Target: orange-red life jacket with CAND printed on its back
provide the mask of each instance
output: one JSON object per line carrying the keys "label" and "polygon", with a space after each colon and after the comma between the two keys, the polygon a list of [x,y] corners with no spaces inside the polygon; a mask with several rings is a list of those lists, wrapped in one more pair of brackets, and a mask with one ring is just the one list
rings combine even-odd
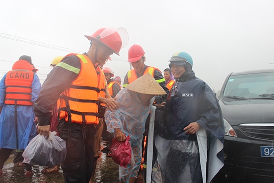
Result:
{"label": "orange-red life jacket with CAND printed on its back", "polygon": [[5,79],[5,104],[32,106],[32,81],[34,72],[32,65],[25,60],[18,60],[7,72]]}

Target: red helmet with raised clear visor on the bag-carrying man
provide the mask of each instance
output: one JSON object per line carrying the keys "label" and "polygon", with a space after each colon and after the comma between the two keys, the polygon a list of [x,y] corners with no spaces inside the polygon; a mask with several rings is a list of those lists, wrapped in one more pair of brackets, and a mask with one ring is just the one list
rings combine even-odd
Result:
{"label": "red helmet with raised clear visor on the bag-carrying man", "polygon": [[119,55],[119,51],[126,40],[128,40],[128,33],[124,28],[100,28],[91,36],[85,35],[89,40],[96,40],[110,48],[115,54]]}

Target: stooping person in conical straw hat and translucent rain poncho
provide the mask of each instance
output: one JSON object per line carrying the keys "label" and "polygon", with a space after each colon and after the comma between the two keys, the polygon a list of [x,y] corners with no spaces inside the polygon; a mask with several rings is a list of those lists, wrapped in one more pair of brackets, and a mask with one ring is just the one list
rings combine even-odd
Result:
{"label": "stooping person in conical straw hat and translucent rain poncho", "polygon": [[107,109],[105,112],[107,130],[114,133],[117,140],[125,141],[126,136],[130,136],[132,159],[126,167],[119,166],[120,183],[134,183],[138,176],[145,121],[154,96],[164,94],[166,92],[157,81],[150,74],[145,74],[117,94],[116,101],[120,105],[118,110]]}

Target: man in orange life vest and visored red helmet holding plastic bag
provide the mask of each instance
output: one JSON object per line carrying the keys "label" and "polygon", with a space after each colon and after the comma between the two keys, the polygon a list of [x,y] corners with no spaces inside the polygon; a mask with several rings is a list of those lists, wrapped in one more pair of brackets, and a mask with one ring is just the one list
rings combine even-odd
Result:
{"label": "man in orange life vest and visored red helmet holding plastic bag", "polygon": [[[65,183],[88,183],[91,178],[99,92],[105,87],[99,65],[113,53],[119,55],[128,41],[127,35],[124,28],[101,28],[85,36],[91,41],[88,52],[65,56],[48,74],[34,103],[37,131],[44,136],[49,135],[51,110],[56,101],[59,106],[57,129],[67,145],[62,162]],[[106,105],[110,110],[116,107],[115,103]]]}

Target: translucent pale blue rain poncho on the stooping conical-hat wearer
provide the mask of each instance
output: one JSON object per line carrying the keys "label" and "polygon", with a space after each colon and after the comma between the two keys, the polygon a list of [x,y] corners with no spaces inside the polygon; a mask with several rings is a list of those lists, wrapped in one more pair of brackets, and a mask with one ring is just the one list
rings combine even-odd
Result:
{"label": "translucent pale blue rain poncho on the stooping conical-hat wearer", "polygon": [[137,97],[137,93],[122,89],[116,95],[116,102],[120,107],[115,111],[108,108],[105,112],[107,131],[114,133],[119,128],[126,136],[130,136],[132,148],[131,163],[127,167],[119,166],[119,180],[128,183],[130,177],[137,178],[142,157],[142,139],[145,131],[145,121],[149,115],[154,97],[149,105],[144,105]]}

